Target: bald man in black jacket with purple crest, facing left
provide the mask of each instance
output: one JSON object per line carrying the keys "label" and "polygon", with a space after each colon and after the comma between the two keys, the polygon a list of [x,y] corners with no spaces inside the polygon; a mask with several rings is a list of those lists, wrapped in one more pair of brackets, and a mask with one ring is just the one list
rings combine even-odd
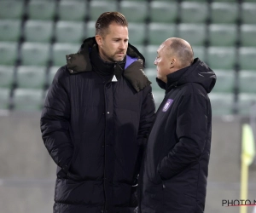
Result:
{"label": "bald man in black jacket with purple crest, facing left", "polygon": [[139,180],[140,213],[202,213],[211,147],[208,93],[214,72],[194,60],[190,44],[172,37],[154,60],[157,83],[166,96],[148,137]]}

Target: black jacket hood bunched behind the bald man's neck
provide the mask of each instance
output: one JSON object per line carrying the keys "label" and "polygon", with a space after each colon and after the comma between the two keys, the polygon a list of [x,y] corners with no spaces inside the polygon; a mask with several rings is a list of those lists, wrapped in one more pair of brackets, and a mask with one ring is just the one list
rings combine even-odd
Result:
{"label": "black jacket hood bunched behind the bald man's neck", "polygon": [[[177,78],[179,73],[180,77]],[[216,75],[205,62],[196,58],[191,66],[167,75],[167,83],[162,82],[160,79],[157,79],[157,83],[162,89],[166,89],[166,92],[185,83],[199,83],[206,89],[207,93],[210,93],[216,83]]]}

